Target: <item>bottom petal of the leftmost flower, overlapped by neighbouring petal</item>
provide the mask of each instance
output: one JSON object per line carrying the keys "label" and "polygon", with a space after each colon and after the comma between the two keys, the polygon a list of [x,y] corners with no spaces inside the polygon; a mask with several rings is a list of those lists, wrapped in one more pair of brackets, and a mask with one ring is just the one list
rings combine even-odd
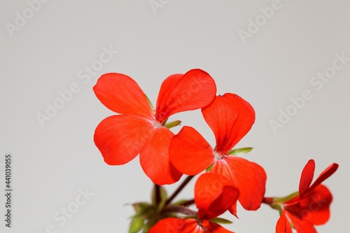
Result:
{"label": "bottom petal of the leftmost flower, overlapped by neighbouring petal", "polygon": [[173,136],[166,127],[155,128],[140,153],[142,169],[158,185],[175,183],[182,176],[169,160],[169,146]]}

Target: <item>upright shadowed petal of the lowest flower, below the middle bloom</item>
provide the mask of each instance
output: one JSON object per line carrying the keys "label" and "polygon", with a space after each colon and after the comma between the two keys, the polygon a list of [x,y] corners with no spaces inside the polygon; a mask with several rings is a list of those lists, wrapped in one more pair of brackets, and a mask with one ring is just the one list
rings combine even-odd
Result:
{"label": "upright shadowed petal of the lowest flower, below the middle bloom", "polygon": [[202,174],[195,184],[198,218],[210,220],[237,202],[239,192],[230,181],[216,174]]}

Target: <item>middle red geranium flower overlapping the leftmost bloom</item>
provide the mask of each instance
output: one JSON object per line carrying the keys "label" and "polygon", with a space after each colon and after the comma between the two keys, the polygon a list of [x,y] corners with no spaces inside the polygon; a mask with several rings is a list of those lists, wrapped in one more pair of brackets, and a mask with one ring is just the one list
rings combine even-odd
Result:
{"label": "middle red geranium flower overlapping the leftmost bloom", "polygon": [[[216,138],[215,149],[192,127],[183,127],[172,139],[169,154],[176,169],[184,174],[199,174],[212,165],[211,173],[219,174],[239,190],[239,202],[247,210],[260,207],[265,194],[266,174],[260,165],[236,155],[230,150],[246,135],[255,121],[248,102],[236,94],[218,96],[202,109]],[[235,214],[235,205],[230,212]]]}

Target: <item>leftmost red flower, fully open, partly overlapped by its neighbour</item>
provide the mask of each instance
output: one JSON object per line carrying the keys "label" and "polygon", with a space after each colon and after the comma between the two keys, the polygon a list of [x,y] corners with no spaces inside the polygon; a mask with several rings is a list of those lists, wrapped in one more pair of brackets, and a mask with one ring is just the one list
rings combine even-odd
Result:
{"label": "leftmost red flower, fully open, partly overlapped by its neighbour", "polygon": [[170,115],[195,110],[211,103],[216,85],[208,73],[193,69],[169,76],[160,87],[155,113],[144,92],[132,78],[106,73],[94,86],[97,98],[121,115],[102,120],[94,143],[110,165],[130,162],[140,154],[145,174],[158,185],[179,180],[181,173],[169,162],[169,143],[174,134],[165,127]]}

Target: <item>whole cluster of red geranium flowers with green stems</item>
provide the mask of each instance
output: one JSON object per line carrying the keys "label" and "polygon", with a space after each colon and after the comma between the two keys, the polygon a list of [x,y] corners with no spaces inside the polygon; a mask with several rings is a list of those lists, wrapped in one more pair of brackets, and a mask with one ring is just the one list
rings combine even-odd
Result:
{"label": "whole cluster of red geranium flowers with green stems", "polygon": [[[332,164],[314,176],[314,160],[302,171],[299,191],[287,197],[265,197],[265,170],[245,158],[252,148],[235,148],[255,121],[253,107],[233,93],[216,94],[216,83],[209,74],[192,69],[185,74],[166,78],[155,108],[132,78],[121,73],[106,73],[94,86],[97,98],[111,111],[94,132],[94,143],[104,161],[122,165],[139,155],[146,176],[153,181],[152,202],[134,203],[130,233],[225,233],[221,223],[225,211],[237,217],[237,203],[248,211],[261,204],[279,210],[276,233],[316,232],[330,216],[332,195],[321,183],[338,165]],[[178,134],[171,129],[180,120],[168,122],[170,116],[201,109],[204,120],[214,133],[216,145],[195,128],[184,126]],[[162,185],[188,177],[170,197]],[[194,198],[173,202],[176,195],[199,175]],[[196,206],[196,210],[190,206]]]}

